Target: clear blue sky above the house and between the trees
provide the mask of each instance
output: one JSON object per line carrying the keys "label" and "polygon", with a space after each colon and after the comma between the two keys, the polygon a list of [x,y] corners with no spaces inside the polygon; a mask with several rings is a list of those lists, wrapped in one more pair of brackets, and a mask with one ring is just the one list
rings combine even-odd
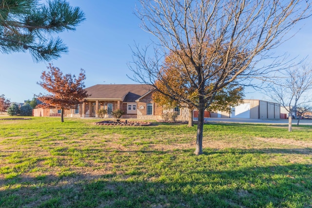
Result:
{"label": "clear blue sky above the house and between the trees", "polygon": [[[86,15],[76,31],[63,32],[58,36],[69,48],[57,60],[50,61],[64,73],[78,75],[86,71],[85,86],[96,84],[134,83],[126,75],[132,73],[127,62],[132,60],[130,46],[135,41],[147,45],[150,34],[139,28],[140,21],[133,14],[137,0],[69,0],[72,6],[79,6]],[[276,50],[277,54],[287,52],[291,57],[312,58],[312,27],[307,19],[298,27],[302,29],[294,38]],[[37,84],[48,62],[35,63],[29,53],[0,54],[0,95],[11,102],[32,99],[34,94],[44,93]],[[252,91],[247,91],[252,92]],[[267,99],[265,95],[247,93],[247,99]]]}

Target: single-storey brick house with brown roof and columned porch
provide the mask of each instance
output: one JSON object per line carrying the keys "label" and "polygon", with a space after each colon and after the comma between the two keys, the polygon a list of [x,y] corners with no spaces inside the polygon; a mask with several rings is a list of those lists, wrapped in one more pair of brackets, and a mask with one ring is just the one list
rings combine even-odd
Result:
{"label": "single-storey brick house with brown roof and columned porch", "polygon": [[[76,106],[75,109],[64,110],[66,117],[98,117],[98,110],[107,111],[105,118],[112,118],[113,111],[122,110],[121,118],[137,118],[145,120],[161,120],[166,111],[176,111],[177,120],[187,120],[187,109],[164,110],[152,99],[154,88],[144,84],[98,84],[85,89],[91,96]],[[58,109],[37,108],[34,116],[60,116]]]}

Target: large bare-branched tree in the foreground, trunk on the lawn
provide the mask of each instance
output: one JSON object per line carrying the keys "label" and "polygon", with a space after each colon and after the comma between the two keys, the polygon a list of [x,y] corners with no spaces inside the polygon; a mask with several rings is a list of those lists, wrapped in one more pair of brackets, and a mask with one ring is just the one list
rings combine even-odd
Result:
{"label": "large bare-branched tree in the foreground, trunk on the lawn", "polygon": [[156,40],[153,57],[148,47],[137,45],[133,50],[132,79],[165,93],[155,85],[162,77],[163,57],[173,53],[185,66],[191,63],[187,74],[197,91],[196,103],[174,92],[170,96],[198,110],[195,154],[202,153],[204,110],[216,93],[239,78],[268,73],[273,65],[256,69],[255,64],[270,57],[270,49],[280,45],[295,23],[311,16],[311,2],[306,0],[140,2],[137,17]]}

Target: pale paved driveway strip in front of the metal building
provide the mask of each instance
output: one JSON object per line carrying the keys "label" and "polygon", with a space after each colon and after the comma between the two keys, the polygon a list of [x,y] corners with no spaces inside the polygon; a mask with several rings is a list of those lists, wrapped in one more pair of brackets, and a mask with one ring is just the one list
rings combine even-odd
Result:
{"label": "pale paved driveway strip in front of the metal building", "polygon": [[[251,119],[251,118],[205,118],[206,121],[234,122],[234,123],[266,123],[266,124],[288,124],[288,119]],[[297,124],[297,119],[292,119],[292,124]],[[300,125],[312,125],[312,119],[301,119]]]}

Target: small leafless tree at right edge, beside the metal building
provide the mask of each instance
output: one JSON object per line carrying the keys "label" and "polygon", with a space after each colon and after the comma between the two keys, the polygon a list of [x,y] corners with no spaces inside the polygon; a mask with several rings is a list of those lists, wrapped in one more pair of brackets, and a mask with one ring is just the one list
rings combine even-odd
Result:
{"label": "small leafless tree at right edge, beside the metal building", "polygon": [[268,87],[268,95],[288,112],[288,131],[292,132],[292,114],[299,106],[312,101],[307,96],[312,89],[312,67],[303,63],[280,73],[281,75],[276,75],[276,79],[273,80],[273,85]]}

